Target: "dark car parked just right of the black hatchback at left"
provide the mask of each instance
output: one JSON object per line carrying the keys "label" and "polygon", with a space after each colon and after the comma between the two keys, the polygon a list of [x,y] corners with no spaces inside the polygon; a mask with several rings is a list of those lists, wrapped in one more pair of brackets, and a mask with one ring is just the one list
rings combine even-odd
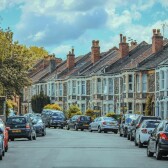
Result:
{"label": "dark car parked just right of the black hatchback at left", "polygon": [[41,118],[34,118],[32,124],[35,128],[36,135],[46,135],[46,127]]}

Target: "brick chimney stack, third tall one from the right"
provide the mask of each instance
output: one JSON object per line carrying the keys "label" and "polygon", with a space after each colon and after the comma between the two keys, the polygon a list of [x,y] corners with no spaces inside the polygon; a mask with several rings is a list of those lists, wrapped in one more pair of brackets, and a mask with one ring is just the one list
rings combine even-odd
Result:
{"label": "brick chimney stack, third tall one from the right", "polygon": [[92,53],[91,53],[91,61],[94,64],[95,62],[100,60],[100,46],[99,46],[99,40],[93,40],[92,41]]}

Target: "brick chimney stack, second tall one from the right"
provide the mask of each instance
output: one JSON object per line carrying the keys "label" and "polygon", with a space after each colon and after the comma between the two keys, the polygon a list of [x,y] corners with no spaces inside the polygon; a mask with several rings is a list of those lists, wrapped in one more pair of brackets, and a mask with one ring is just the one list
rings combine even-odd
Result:
{"label": "brick chimney stack, second tall one from the right", "polygon": [[127,41],[126,36],[122,36],[122,34],[120,34],[120,43],[119,43],[120,58],[123,58],[129,54],[129,45],[126,41]]}

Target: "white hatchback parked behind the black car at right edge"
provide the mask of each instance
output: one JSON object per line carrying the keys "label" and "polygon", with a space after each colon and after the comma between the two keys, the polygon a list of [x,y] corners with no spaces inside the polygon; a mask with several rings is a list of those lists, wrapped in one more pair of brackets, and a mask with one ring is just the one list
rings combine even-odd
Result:
{"label": "white hatchback parked behind the black car at right edge", "polygon": [[136,130],[135,145],[138,145],[139,148],[146,145],[152,131],[159,123],[160,120],[144,120],[141,126]]}

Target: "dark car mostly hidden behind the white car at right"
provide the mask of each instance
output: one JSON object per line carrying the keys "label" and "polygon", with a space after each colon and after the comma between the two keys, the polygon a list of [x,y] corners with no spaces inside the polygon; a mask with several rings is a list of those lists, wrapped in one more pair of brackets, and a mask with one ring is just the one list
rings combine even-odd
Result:
{"label": "dark car mostly hidden behind the white car at right", "polygon": [[138,145],[137,142],[136,142],[136,130],[140,127],[141,123],[144,120],[149,120],[149,119],[151,119],[151,120],[161,120],[160,117],[156,117],[156,116],[139,115],[138,118],[135,120],[135,122],[133,122],[132,129],[131,129],[131,132],[130,132],[130,138],[134,139],[135,145]]}

